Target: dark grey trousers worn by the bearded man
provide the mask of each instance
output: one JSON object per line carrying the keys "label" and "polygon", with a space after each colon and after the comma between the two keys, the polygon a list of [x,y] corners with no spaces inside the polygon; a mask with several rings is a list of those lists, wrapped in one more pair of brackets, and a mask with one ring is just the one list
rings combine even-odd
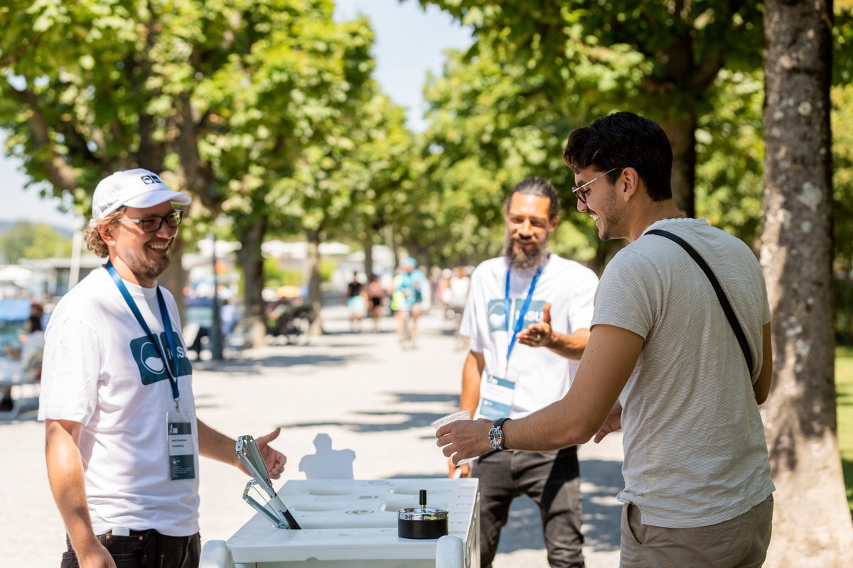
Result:
{"label": "dark grey trousers worn by the bearded man", "polygon": [[490,568],[509,507],[529,496],[542,517],[548,564],[583,568],[581,479],[577,446],[560,451],[495,451],[473,462],[480,481],[480,566]]}

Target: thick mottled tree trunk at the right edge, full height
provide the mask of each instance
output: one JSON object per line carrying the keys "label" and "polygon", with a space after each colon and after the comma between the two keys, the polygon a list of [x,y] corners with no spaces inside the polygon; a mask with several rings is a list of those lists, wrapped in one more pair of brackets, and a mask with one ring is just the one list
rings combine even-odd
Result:
{"label": "thick mottled tree trunk at the right edge, full height", "polygon": [[761,260],[775,353],[764,418],[777,490],[770,568],[853,565],[833,376],[832,18],[831,0],[764,4]]}

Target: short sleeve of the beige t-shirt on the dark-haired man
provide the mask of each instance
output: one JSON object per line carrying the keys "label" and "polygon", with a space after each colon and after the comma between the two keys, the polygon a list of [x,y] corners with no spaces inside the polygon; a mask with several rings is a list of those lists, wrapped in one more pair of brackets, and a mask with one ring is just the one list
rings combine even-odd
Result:
{"label": "short sleeve of the beige t-shirt on the dark-haired man", "polygon": [[601,275],[592,324],[621,327],[645,339],[660,313],[662,294],[661,278],[652,262],[622,250]]}

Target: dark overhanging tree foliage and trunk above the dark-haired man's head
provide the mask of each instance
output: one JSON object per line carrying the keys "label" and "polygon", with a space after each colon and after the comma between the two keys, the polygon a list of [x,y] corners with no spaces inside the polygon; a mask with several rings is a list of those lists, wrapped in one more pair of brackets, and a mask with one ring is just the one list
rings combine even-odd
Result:
{"label": "dark overhanging tree foliage and trunk above the dark-haired man's head", "polygon": [[543,77],[558,112],[632,110],[661,123],[673,142],[676,204],[693,214],[694,133],[711,111],[707,91],[718,73],[760,66],[757,3],[421,0],[427,3],[473,26],[469,55],[487,46],[500,62]]}

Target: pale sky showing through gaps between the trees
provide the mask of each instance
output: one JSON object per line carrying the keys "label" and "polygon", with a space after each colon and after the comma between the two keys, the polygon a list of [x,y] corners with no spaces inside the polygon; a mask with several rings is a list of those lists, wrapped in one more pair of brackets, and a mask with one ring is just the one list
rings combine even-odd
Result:
{"label": "pale sky showing through gaps between the trees", "polygon": [[[445,49],[466,49],[471,32],[450,15],[430,6],[421,9],[417,0],[336,0],[336,20],[351,20],[365,14],[373,22],[375,43],[374,77],[382,90],[407,109],[409,127],[425,128],[421,89],[427,71],[440,74]],[[5,136],[0,132],[0,144]],[[0,220],[37,221],[73,229],[82,217],[61,213],[59,199],[42,199],[38,187],[24,188],[28,178],[20,161],[0,153]]]}

